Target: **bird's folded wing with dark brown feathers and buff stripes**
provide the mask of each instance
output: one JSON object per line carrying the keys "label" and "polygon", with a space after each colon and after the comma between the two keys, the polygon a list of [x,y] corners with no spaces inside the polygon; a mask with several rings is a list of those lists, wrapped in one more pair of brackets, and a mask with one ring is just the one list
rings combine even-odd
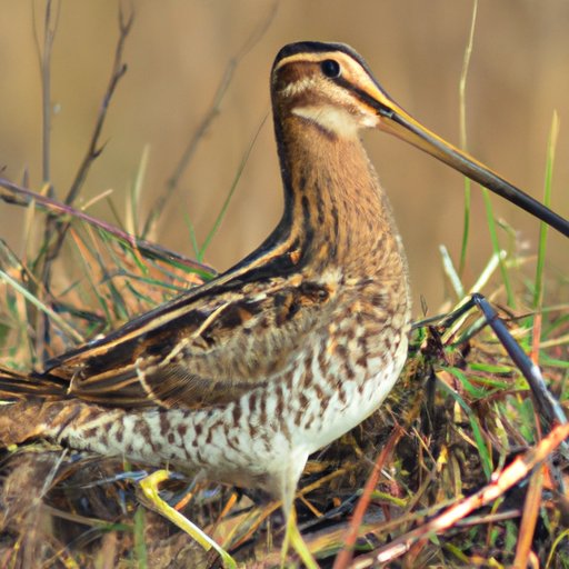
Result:
{"label": "bird's folded wing with dark brown feathers and buff stripes", "polygon": [[216,279],[51,360],[43,377],[102,405],[227,402],[290,365],[330,298],[299,274]]}

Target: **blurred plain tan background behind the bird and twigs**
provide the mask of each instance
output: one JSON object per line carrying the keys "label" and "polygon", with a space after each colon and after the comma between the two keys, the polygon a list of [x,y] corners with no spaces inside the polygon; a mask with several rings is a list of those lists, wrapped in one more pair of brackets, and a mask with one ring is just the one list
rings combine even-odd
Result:
{"label": "blurred plain tan background behind the bird and twigs", "polygon": [[[274,4],[261,0],[133,0],[128,72],[112,100],[81,200],[112,189],[124,211],[144,148],[144,220],[208,112],[228,64],[242,53],[220,112],[201,139],[152,239],[193,254],[188,220],[201,242],[244,153],[270,112],[269,70],[295,40],[342,41],[368,61],[386,90],[447,140],[459,142],[458,86],[472,2],[430,0],[282,0],[264,33],[243,53]],[[33,29],[42,34],[43,1],[0,0],[0,166],[2,176],[41,187],[41,82]],[[34,23],[36,22],[36,23]],[[553,209],[569,214],[569,2],[481,1],[467,84],[468,147],[472,154],[541,199],[553,110],[561,121]],[[52,53],[52,182],[62,198],[86,152],[106,90],[118,38],[118,2],[62,2]],[[415,290],[436,312],[446,284],[438,246],[458,258],[462,231],[460,174],[379,132],[366,146],[392,200]],[[496,213],[536,248],[538,222],[499,198]],[[218,270],[254,248],[278,221],[281,182],[271,120],[262,126],[220,230],[206,252]],[[472,189],[472,233],[465,283],[491,254],[481,193]],[[89,212],[114,221],[107,202]],[[0,202],[0,238],[21,252],[23,211]],[[501,236],[506,243],[506,234]],[[550,233],[548,273],[567,276],[567,241]],[[566,281],[567,282],[567,281]]]}

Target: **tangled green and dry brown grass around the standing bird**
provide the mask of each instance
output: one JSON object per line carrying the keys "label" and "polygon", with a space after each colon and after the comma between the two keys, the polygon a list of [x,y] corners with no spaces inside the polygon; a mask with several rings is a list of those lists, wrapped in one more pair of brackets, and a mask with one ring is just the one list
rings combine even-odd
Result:
{"label": "tangled green and dry brown grass around the standing bird", "polygon": [[[106,93],[110,102],[122,77],[120,58],[130,26],[130,19],[121,19]],[[227,90],[222,86],[221,97]],[[213,108],[219,103],[216,98]],[[211,118],[204,121],[208,127]],[[76,180],[84,181],[97,158],[102,121],[99,116]],[[556,122],[551,132],[546,196],[551,194]],[[116,216],[126,217],[131,231],[142,228],[138,237],[76,210],[81,183],[73,183],[72,199],[60,203],[49,191],[32,196],[0,182],[4,199],[27,208],[30,227],[51,228],[37,232],[26,259],[0,242],[2,365],[29,369],[44,355],[106,333],[214,274],[144,239],[156,221],[138,219],[144,162],[132,186],[130,210]],[[227,202],[220,214],[226,208]],[[489,218],[493,221],[490,211]],[[443,256],[457,306],[468,291],[481,290],[501,307],[510,332],[540,362],[550,391],[567,406],[569,305],[546,273],[546,230],[537,260],[505,254],[496,243],[471,286],[461,280],[466,244],[459,270]],[[52,287],[53,268],[69,274],[64,286]],[[480,326],[478,313],[469,312],[451,327],[440,321],[416,326],[406,369],[381,410],[311,457],[296,501],[308,547],[322,567],[336,559],[337,568],[348,567],[355,556],[358,567],[378,559],[402,567],[569,567],[569,503],[560,482],[568,463],[553,452],[567,433],[562,427],[550,431],[523,375],[492,331]],[[141,506],[137,480],[143,469],[40,442],[4,451],[1,565],[214,566],[216,557]],[[283,520],[278,505],[219,485],[198,485],[188,493],[188,481],[181,480],[169,481],[163,491],[239,562],[279,566]]]}

